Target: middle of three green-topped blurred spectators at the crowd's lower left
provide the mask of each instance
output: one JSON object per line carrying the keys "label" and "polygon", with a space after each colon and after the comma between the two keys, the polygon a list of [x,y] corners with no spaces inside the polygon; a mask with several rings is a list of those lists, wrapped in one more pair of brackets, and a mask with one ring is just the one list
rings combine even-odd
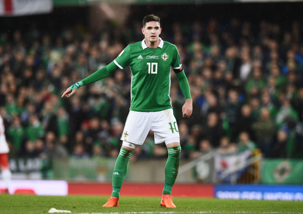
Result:
{"label": "middle of three green-topped blurred spectators at the crowd's lower left", "polygon": [[35,114],[29,117],[29,125],[26,130],[28,140],[35,141],[38,138],[44,137],[45,131],[40,121]]}

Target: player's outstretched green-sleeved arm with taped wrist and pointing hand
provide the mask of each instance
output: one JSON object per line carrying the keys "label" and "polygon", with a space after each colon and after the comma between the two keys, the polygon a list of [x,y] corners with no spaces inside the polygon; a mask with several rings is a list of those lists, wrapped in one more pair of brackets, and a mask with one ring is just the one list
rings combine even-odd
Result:
{"label": "player's outstretched green-sleeved arm with taped wrist and pointing hand", "polygon": [[64,97],[64,96],[66,96],[68,98],[71,97],[73,94],[75,94],[77,92],[79,87],[81,87],[83,85],[87,85],[89,83],[96,82],[96,81],[101,80],[105,77],[108,77],[117,68],[118,68],[118,66],[114,62],[111,62],[107,66],[99,69],[98,71],[89,75],[88,77],[81,80],[80,82],[77,82],[77,83],[73,84],[71,87],[66,89],[66,91],[62,94],[61,97]]}

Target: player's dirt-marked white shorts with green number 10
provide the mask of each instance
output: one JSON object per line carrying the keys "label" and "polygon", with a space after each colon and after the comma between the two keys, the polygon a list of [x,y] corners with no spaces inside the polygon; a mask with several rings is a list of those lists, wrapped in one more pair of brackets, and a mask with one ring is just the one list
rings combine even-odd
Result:
{"label": "player's dirt-marked white shorts with green number 10", "polygon": [[142,145],[150,130],[154,132],[155,143],[175,137],[178,138],[175,142],[180,142],[179,129],[172,109],[155,112],[129,111],[121,140]]}

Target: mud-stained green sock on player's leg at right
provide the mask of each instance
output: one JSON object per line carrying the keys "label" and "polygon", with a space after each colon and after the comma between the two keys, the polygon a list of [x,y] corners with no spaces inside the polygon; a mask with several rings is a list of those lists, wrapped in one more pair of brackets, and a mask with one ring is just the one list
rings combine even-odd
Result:
{"label": "mud-stained green sock on player's leg at right", "polygon": [[162,191],[163,195],[171,195],[171,188],[174,186],[179,172],[181,146],[169,147],[167,150],[168,159],[165,165],[165,182]]}

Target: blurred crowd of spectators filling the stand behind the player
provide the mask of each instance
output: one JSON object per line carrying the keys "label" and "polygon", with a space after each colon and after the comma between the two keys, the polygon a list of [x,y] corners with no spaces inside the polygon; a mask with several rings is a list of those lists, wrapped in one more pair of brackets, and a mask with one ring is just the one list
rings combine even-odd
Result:
{"label": "blurred crowd of spectators filling the stand behind the player", "polygon": [[[281,27],[238,19],[162,25],[161,38],[176,44],[193,99],[184,97],[172,72],[171,99],[183,158],[210,150],[222,154],[259,148],[265,157],[303,157],[303,41],[300,22]],[[0,114],[11,156],[116,157],[130,107],[129,67],[63,92],[141,41],[141,21],[88,31],[85,26],[0,32]],[[166,157],[150,131],[134,158]]]}

